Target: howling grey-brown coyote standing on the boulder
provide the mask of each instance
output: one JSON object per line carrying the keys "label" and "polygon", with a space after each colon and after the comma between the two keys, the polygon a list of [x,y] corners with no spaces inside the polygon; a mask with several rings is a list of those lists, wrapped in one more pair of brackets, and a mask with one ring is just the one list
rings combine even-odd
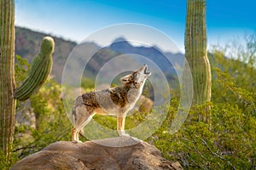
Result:
{"label": "howling grey-brown coyote standing on the boulder", "polygon": [[151,75],[147,70],[148,66],[143,65],[137,71],[121,77],[122,85],[119,87],[79,95],[73,107],[72,140],[81,142],[79,133],[83,133],[83,127],[95,114],[117,116],[119,136],[129,136],[125,133],[125,116],[143,92],[144,83]]}

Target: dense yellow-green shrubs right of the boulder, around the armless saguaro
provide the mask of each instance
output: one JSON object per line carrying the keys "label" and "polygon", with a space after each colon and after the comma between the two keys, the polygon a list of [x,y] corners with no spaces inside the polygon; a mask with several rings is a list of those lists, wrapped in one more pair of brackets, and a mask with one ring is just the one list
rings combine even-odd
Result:
{"label": "dense yellow-green shrubs right of the boulder, around the armless saguaro", "polygon": [[246,47],[235,43],[212,49],[210,126],[199,122],[207,106],[199,105],[177,133],[167,133],[177,108],[177,99],[172,99],[166,122],[148,138],[166,158],[180,161],[186,169],[256,168],[256,38],[247,36],[246,41]]}

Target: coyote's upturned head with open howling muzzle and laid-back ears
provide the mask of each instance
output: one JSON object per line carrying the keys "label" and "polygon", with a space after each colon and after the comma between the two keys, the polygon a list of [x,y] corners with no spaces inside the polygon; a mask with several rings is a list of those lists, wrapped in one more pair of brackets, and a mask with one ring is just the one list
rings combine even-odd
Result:
{"label": "coyote's upturned head with open howling muzzle and laid-back ears", "polygon": [[130,75],[121,77],[120,81],[124,84],[133,84],[135,87],[141,87],[146,79],[151,75],[151,72],[148,72],[148,66],[143,65],[137,71],[132,72]]}

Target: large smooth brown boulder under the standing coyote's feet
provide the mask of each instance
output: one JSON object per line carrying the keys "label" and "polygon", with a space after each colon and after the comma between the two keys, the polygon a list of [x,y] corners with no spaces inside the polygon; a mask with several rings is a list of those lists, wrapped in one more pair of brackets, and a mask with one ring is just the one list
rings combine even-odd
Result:
{"label": "large smooth brown boulder under the standing coyote's feet", "polygon": [[[106,139],[107,143],[129,142],[132,137]],[[154,145],[139,140],[125,147],[109,147],[104,140],[81,144],[61,141],[15,163],[16,169],[183,169],[160,156]]]}

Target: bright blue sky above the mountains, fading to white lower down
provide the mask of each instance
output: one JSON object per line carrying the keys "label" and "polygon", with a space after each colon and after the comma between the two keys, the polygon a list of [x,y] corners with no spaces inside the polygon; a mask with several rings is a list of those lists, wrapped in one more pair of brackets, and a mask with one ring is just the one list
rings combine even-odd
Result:
{"label": "bright blue sky above the mountains, fading to white lower down", "polygon": [[[207,0],[208,47],[255,33],[255,6],[255,0]],[[185,16],[185,0],[15,0],[16,26],[76,42],[107,26],[137,23],[162,31],[183,51]]]}

